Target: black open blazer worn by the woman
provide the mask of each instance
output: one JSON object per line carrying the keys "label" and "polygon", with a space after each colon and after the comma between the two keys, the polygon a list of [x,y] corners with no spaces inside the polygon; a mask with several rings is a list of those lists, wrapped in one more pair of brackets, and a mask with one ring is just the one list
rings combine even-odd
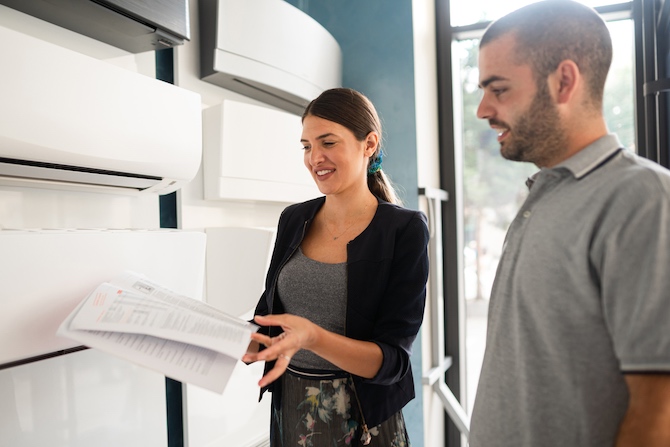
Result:
{"label": "black open blazer worn by the woman", "polygon": [[[277,239],[256,315],[284,313],[275,299],[277,277],[297,250],[325,197],[287,207],[279,218]],[[423,321],[428,279],[429,232],[426,216],[379,200],[370,225],[347,245],[345,334],[379,345],[384,355],[375,377],[353,376],[369,428],[384,422],[415,396],[410,354]],[[262,328],[276,336],[281,329]],[[265,372],[274,362],[267,362]],[[279,382],[267,388],[281,393]],[[261,390],[261,396],[266,389]]]}

